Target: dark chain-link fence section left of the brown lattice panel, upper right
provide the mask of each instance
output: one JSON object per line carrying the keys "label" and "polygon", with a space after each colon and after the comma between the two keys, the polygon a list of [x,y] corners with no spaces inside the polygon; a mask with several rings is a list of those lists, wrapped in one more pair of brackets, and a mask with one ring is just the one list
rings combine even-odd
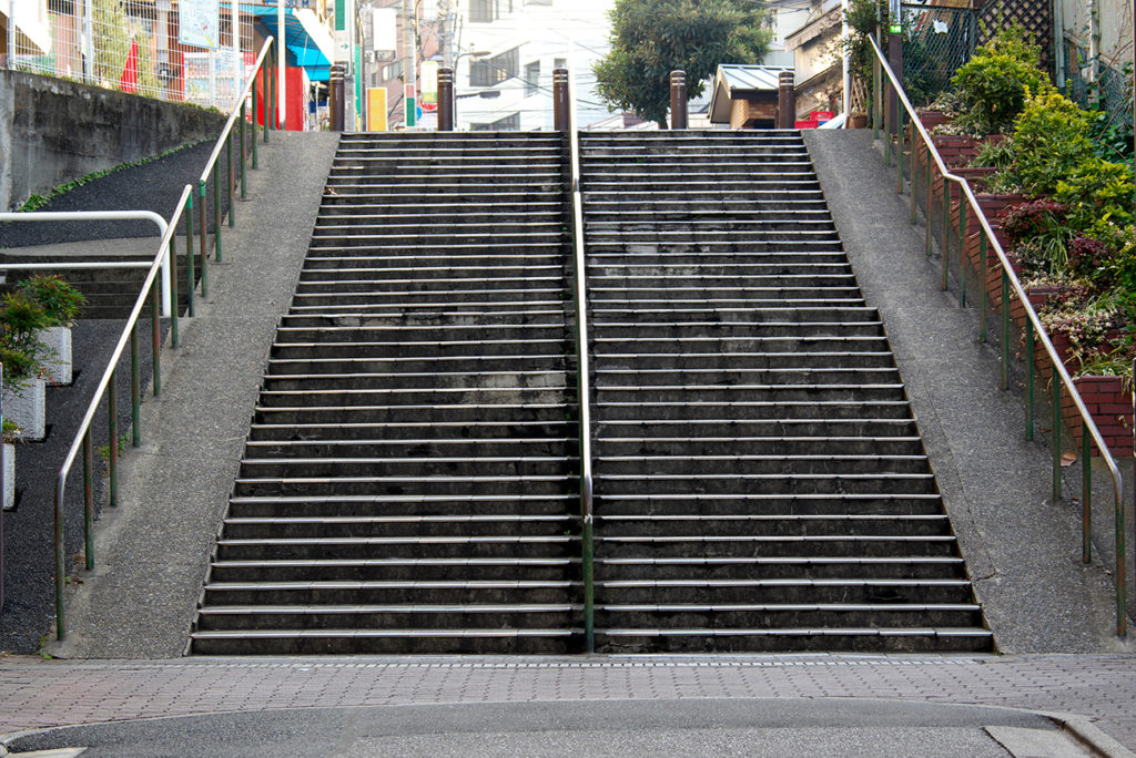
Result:
{"label": "dark chain-link fence section left of the brown lattice panel, upper right", "polygon": [[977,22],[967,8],[904,5],[903,89],[924,106],[951,87],[955,69],[975,52]]}

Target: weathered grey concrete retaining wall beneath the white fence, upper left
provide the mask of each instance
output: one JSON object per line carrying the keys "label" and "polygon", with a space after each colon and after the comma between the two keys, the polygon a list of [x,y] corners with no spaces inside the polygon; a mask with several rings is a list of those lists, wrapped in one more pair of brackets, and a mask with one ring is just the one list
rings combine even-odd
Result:
{"label": "weathered grey concrete retaining wall beneath the white fence, upper left", "polygon": [[0,70],[0,209],[119,163],[215,137],[225,116],[192,106]]}

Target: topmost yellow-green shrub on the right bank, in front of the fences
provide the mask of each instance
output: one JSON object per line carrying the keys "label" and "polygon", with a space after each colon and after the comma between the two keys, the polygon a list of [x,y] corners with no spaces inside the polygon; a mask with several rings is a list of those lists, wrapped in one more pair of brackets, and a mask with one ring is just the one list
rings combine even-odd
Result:
{"label": "topmost yellow-green shrub on the right bank, in front of the fences", "polygon": [[1052,90],[1038,67],[1041,48],[1013,26],[975,51],[951,78],[966,106],[960,126],[977,134],[1001,134],[1021,112],[1029,93]]}

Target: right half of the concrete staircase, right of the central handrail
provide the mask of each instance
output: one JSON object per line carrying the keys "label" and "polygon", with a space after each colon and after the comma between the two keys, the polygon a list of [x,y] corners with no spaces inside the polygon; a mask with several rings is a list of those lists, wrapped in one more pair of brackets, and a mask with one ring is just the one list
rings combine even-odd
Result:
{"label": "right half of the concrete staircase, right of the central handrail", "polygon": [[596,649],[992,646],[795,132],[582,135]]}

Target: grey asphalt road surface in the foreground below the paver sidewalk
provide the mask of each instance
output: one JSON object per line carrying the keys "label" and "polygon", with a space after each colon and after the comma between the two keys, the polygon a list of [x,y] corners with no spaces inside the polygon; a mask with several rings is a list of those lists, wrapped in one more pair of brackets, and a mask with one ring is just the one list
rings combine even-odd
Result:
{"label": "grey asphalt road surface in the foreground below the paver sidewalk", "polygon": [[749,699],[217,714],[58,728],[18,738],[9,748],[18,753],[86,747],[83,755],[92,757],[1013,755],[985,731],[987,726],[1063,739],[1049,718],[1005,708]]}

